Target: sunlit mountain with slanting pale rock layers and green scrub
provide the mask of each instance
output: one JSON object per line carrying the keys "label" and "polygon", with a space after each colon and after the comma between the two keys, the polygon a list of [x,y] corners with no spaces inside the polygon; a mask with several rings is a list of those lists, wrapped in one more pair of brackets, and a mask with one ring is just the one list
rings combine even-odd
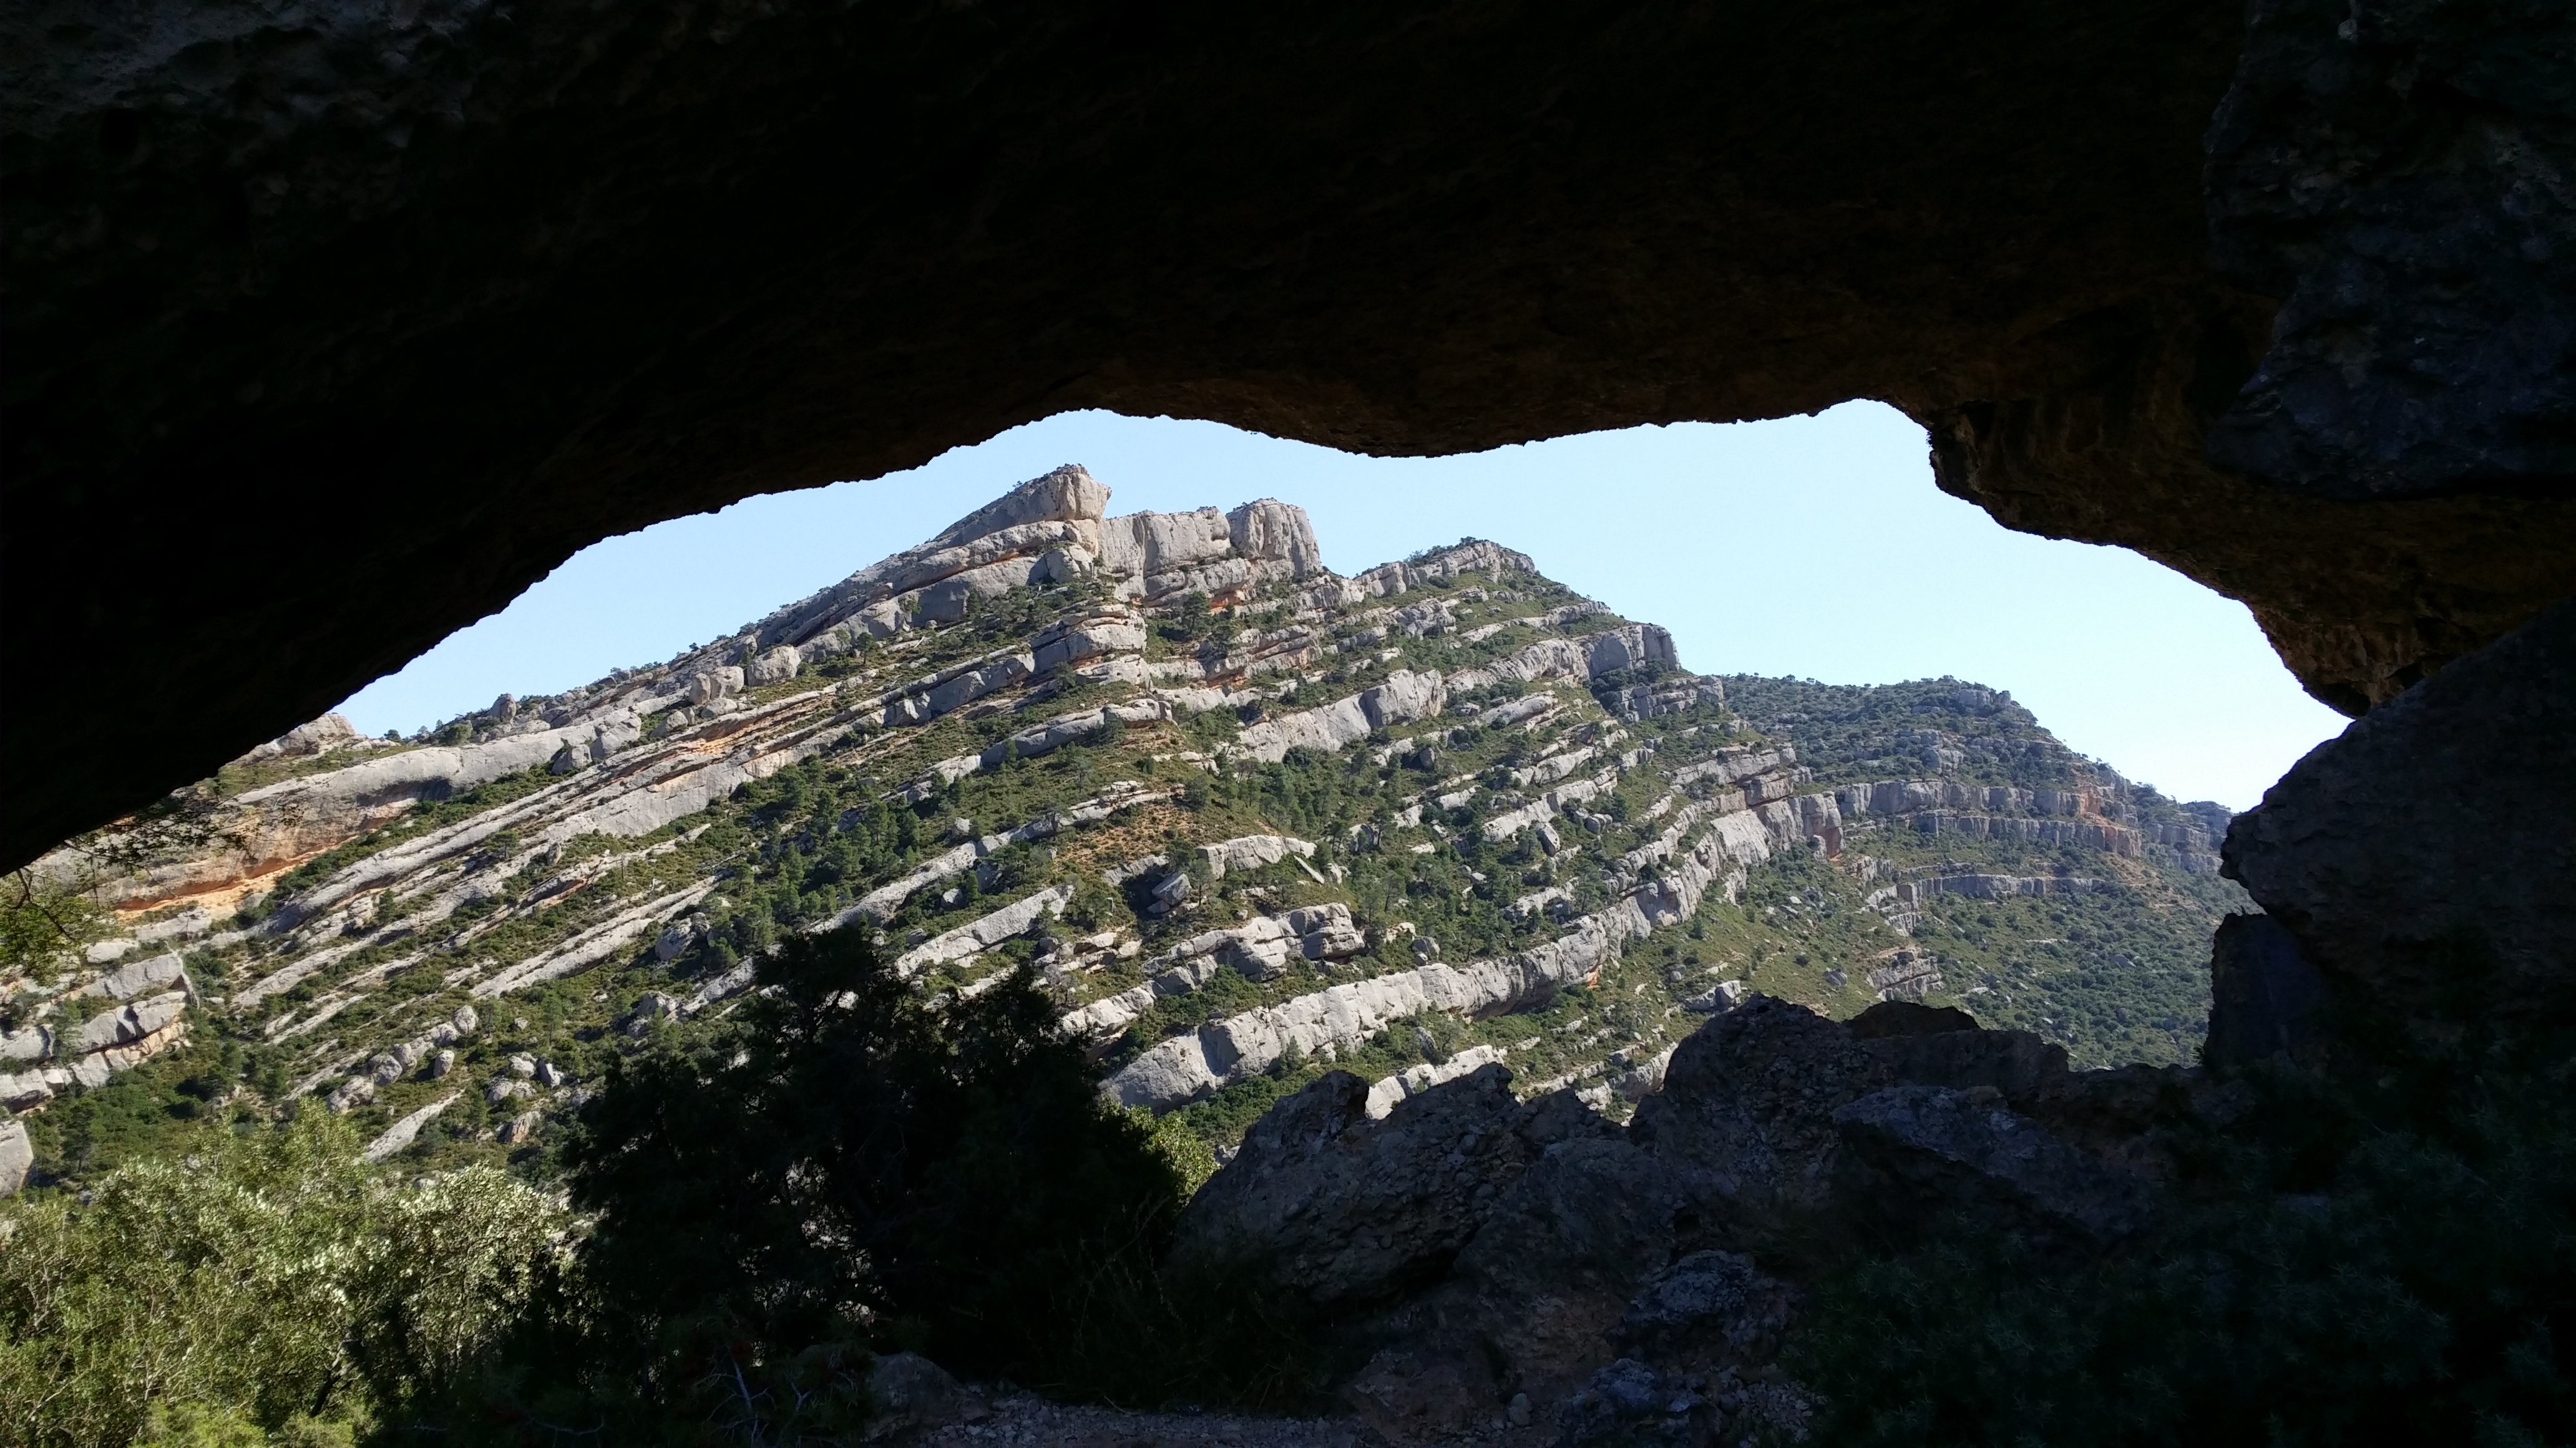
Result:
{"label": "sunlit mountain with slanting pale rock layers and green scrub", "polygon": [[817,928],[922,989],[1033,966],[1105,1090],[1216,1149],[1327,1064],[1623,1113],[1747,992],[2177,1062],[2236,907],[2213,809],[1978,685],[1692,675],[1502,544],[1342,577],[1298,508],[1113,518],[1064,466],[665,665],[399,742],[322,719],[46,855],[121,933],[5,984],[0,1100],[77,1172],[57,1098],[222,1056],[371,1152],[541,1170],[603,1054]]}

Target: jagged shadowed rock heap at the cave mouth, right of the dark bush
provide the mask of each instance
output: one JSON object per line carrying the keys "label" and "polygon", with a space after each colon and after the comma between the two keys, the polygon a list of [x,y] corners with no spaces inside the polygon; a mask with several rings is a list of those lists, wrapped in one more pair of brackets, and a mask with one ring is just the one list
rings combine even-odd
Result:
{"label": "jagged shadowed rock heap at the cave mouth, right of the dark bush", "polygon": [[[1329,1074],[1270,1110],[1193,1201],[1172,1270],[1267,1273],[1355,1360],[1342,1402],[1388,1443],[1553,1425],[1558,1443],[1793,1427],[1780,1273],[1929,1221],[2058,1252],[2154,1216],[2159,1126],[2197,1072],[2069,1072],[1958,1010],[1837,1023],[1754,995],[1685,1038],[1618,1131],[1504,1067],[1368,1118]],[[1533,1438],[1535,1440],[1535,1438]]]}

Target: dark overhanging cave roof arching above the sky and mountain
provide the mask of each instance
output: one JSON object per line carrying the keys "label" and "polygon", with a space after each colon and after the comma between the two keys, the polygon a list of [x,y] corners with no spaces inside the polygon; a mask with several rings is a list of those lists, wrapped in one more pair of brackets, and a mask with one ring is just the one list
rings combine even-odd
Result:
{"label": "dark overhanging cave roof arching above the sky and mountain", "polygon": [[1200,10],[10,8],[8,863],[587,541],[1069,407],[1883,397],[2347,711],[2576,593],[2563,8]]}

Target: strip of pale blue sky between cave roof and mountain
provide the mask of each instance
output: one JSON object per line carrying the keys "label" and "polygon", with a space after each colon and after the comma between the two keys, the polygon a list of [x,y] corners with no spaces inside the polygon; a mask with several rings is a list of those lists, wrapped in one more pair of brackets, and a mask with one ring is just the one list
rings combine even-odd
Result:
{"label": "strip of pale blue sky between cave roof and mountain", "polygon": [[497,693],[667,660],[1069,461],[1110,484],[1113,513],[1298,502],[1340,572],[1494,538],[1664,624],[1700,672],[2009,688],[2074,750],[2182,799],[2246,809],[2344,727],[2241,603],[2125,549],[2007,531],[1932,487],[1922,430],[1875,402],[1450,459],[1066,412],[912,472],[592,544],[340,711],[371,734],[410,732]]}

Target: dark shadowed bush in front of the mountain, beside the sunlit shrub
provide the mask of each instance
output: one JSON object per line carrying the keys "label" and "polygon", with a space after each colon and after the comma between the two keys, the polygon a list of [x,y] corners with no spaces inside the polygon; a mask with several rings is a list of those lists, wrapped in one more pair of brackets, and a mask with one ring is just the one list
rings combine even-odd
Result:
{"label": "dark shadowed bush in front of the mountain, beside the sunlit shrub", "polygon": [[484,1391],[755,1443],[855,1422],[891,1348],[1123,1402],[1303,1391],[1252,1309],[1162,1291],[1182,1165],[1054,1018],[1025,969],[940,1007],[858,930],[791,938],[721,1033],[608,1074],[564,1147],[592,1234]]}

